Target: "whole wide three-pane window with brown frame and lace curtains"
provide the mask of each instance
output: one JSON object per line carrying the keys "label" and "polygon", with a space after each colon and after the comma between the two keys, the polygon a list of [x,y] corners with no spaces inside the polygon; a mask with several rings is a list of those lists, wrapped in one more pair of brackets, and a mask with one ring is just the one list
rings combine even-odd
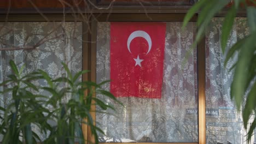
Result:
{"label": "whole wide three-pane window with brown frame and lace curtains", "polygon": [[[155,9],[150,10],[153,13]],[[174,13],[173,9],[170,11]],[[162,98],[118,98],[125,106],[114,105],[117,112],[106,111],[117,117],[97,113],[98,107],[92,107],[97,126],[106,133],[101,135],[100,142],[245,143],[246,131],[243,129],[242,118],[229,96],[232,73],[226,73],[222,65],[225,57],[220,52],[219,43],[222,18],[212,20],[206,38],[197,44],[196,49],[191,50],[189,48],[196,32],[196,19],[190,22],[185,31],[181,31],[183,14],[124,13],[95,14],[96,19],[91,18],[89,23],[75,22],[70,15],[66,16],[66,21],[71,22],[44,22],[37,15],[32,16],[35,22],[29,22],[32,18],[27,18],[27,15],[10,15],[12,22],[0,23],[1,27],[5,26],[5,29],[0,29],[0,33],[11,29],[1,39],[2,48],[24,45],[29,48],[56,26],[60,28],[56,28],[56,33],[50,37],[59,38],[48,40],[35,50],[1,51],[0,80],[4,80],[9,73],[10,58],[20,62],[20,65],[26,63],[27,72],[41,68],[51,76],[61,75],[60,62],[66,61],[74,72],[80,69],[91,70],[82,80],[109,80],[110,23],[166,22]],[[50,21],[62,21],[60,15],[47,16],[51,17]],[[245,21],[241,17],[236,19],[230,45],[248,33]],[[235,61],[234,57],[230,65]],[[38,85],[43,85],[43,82],[38,82]],[[109,89],[109,83],[104,87]],[[8,100],[8,97],[1,98],[1,105],[8,103]],[[105,100],[106,103],[112,103]],[[88,140],[91,140],[86,125],[84,132]]]}

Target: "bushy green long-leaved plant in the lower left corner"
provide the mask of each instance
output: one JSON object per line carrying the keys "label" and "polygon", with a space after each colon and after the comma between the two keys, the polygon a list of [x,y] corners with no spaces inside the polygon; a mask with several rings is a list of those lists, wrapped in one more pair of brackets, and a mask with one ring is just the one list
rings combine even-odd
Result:
{"label": "bushy green long-leaved plant in the lower left corner", "polygon": [[[88,73],[88,70],[72,75],[67,65],[64,63],[62,65],[65,68],[66,77],[52,79],[43,70],[21,76],[24,66],[19,70],[16,64],[10,61],[13,74],[0,84],[0,86],[8,86],[1,92],[1,96],[4,97],[4,94],[11,96],[9,104],[0,107],[2,143],[25,142],[29,144],[39,141],[71,144],[75,143],[75,140],[84,143],[86,139],[83,135],[82,124],[89,126],[95,143],[98,143],[96,131],[100,133],[103,131],[94,125],[90,113],[91,106],[98,105],[102,110],[113,109],[113,107],[94,95],[99,93],[115,101],[117,99],[111,93],[101,89],[101,85],[108,81],[100,84],[90,81],[81,82],[78,79]],[[44,80],[48,86],[34,85],[34,80]],[[32,125],[36,125],[47,136],[46,139],[41,140]],[[49,131],[50,134],[47,134]]]}

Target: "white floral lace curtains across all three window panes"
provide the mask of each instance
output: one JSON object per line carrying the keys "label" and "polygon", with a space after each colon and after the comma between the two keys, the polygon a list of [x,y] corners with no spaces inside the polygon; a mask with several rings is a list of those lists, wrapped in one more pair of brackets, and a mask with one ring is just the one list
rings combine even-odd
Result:
{"label": "white floral lace curtains across all three window panes", "polygon": [[[230,100],[232,71],[223,67],[220,50],[220,31],[223,19],[215,18],[206,32],[206,107],[207,143],[243,143],[246,131],[242,118]],[[96,113],[97,126],[105,135],[104,141],[138,142],[197,142],[197,68],[196,51],[189,53],[196,31],[190,22],[181,31],[181,22],[167,22],[164,77],[161,99],[118,98],[124,107],[114,103],[115,111]],[[53,29],[56,31],[51,33]],[[97,82],[110,79],[109,41],[110,23],[97,25]],[[9,60],[18,67],[25,64],[24,74],[43,69],[52,77],[64,74],[61,62],[75,73],[82,69],[82,23],[80,22],[8,22],[0,23],[0,47],[33,46],[45,35],[49,39],[34,50],[0,52],[0,82],[11,73]],[[237,18],[228,46],[249,33],[246,19]],[[188,56],[188,54],[190,54]],[[236,61],[228,63],[228,68]],[[45,85],[43,81],[35,82]],[[109,83],[104,85],[109,90]],[[0,87],[1,90],[7,87]],[[113,101],[97,95],[106,103]],[[8,94],[1,95],[0,104],[8,104]],[[99,107],[97,107],[99,109]],[[114,113],[108,115],[107,113]],[[40,130],[34,127],[40,133]],[[41,135],[44,137],[44,135]],[[254,138],[254,137],[253,137]],[[126,139],[126,140],[125,140]]]}

